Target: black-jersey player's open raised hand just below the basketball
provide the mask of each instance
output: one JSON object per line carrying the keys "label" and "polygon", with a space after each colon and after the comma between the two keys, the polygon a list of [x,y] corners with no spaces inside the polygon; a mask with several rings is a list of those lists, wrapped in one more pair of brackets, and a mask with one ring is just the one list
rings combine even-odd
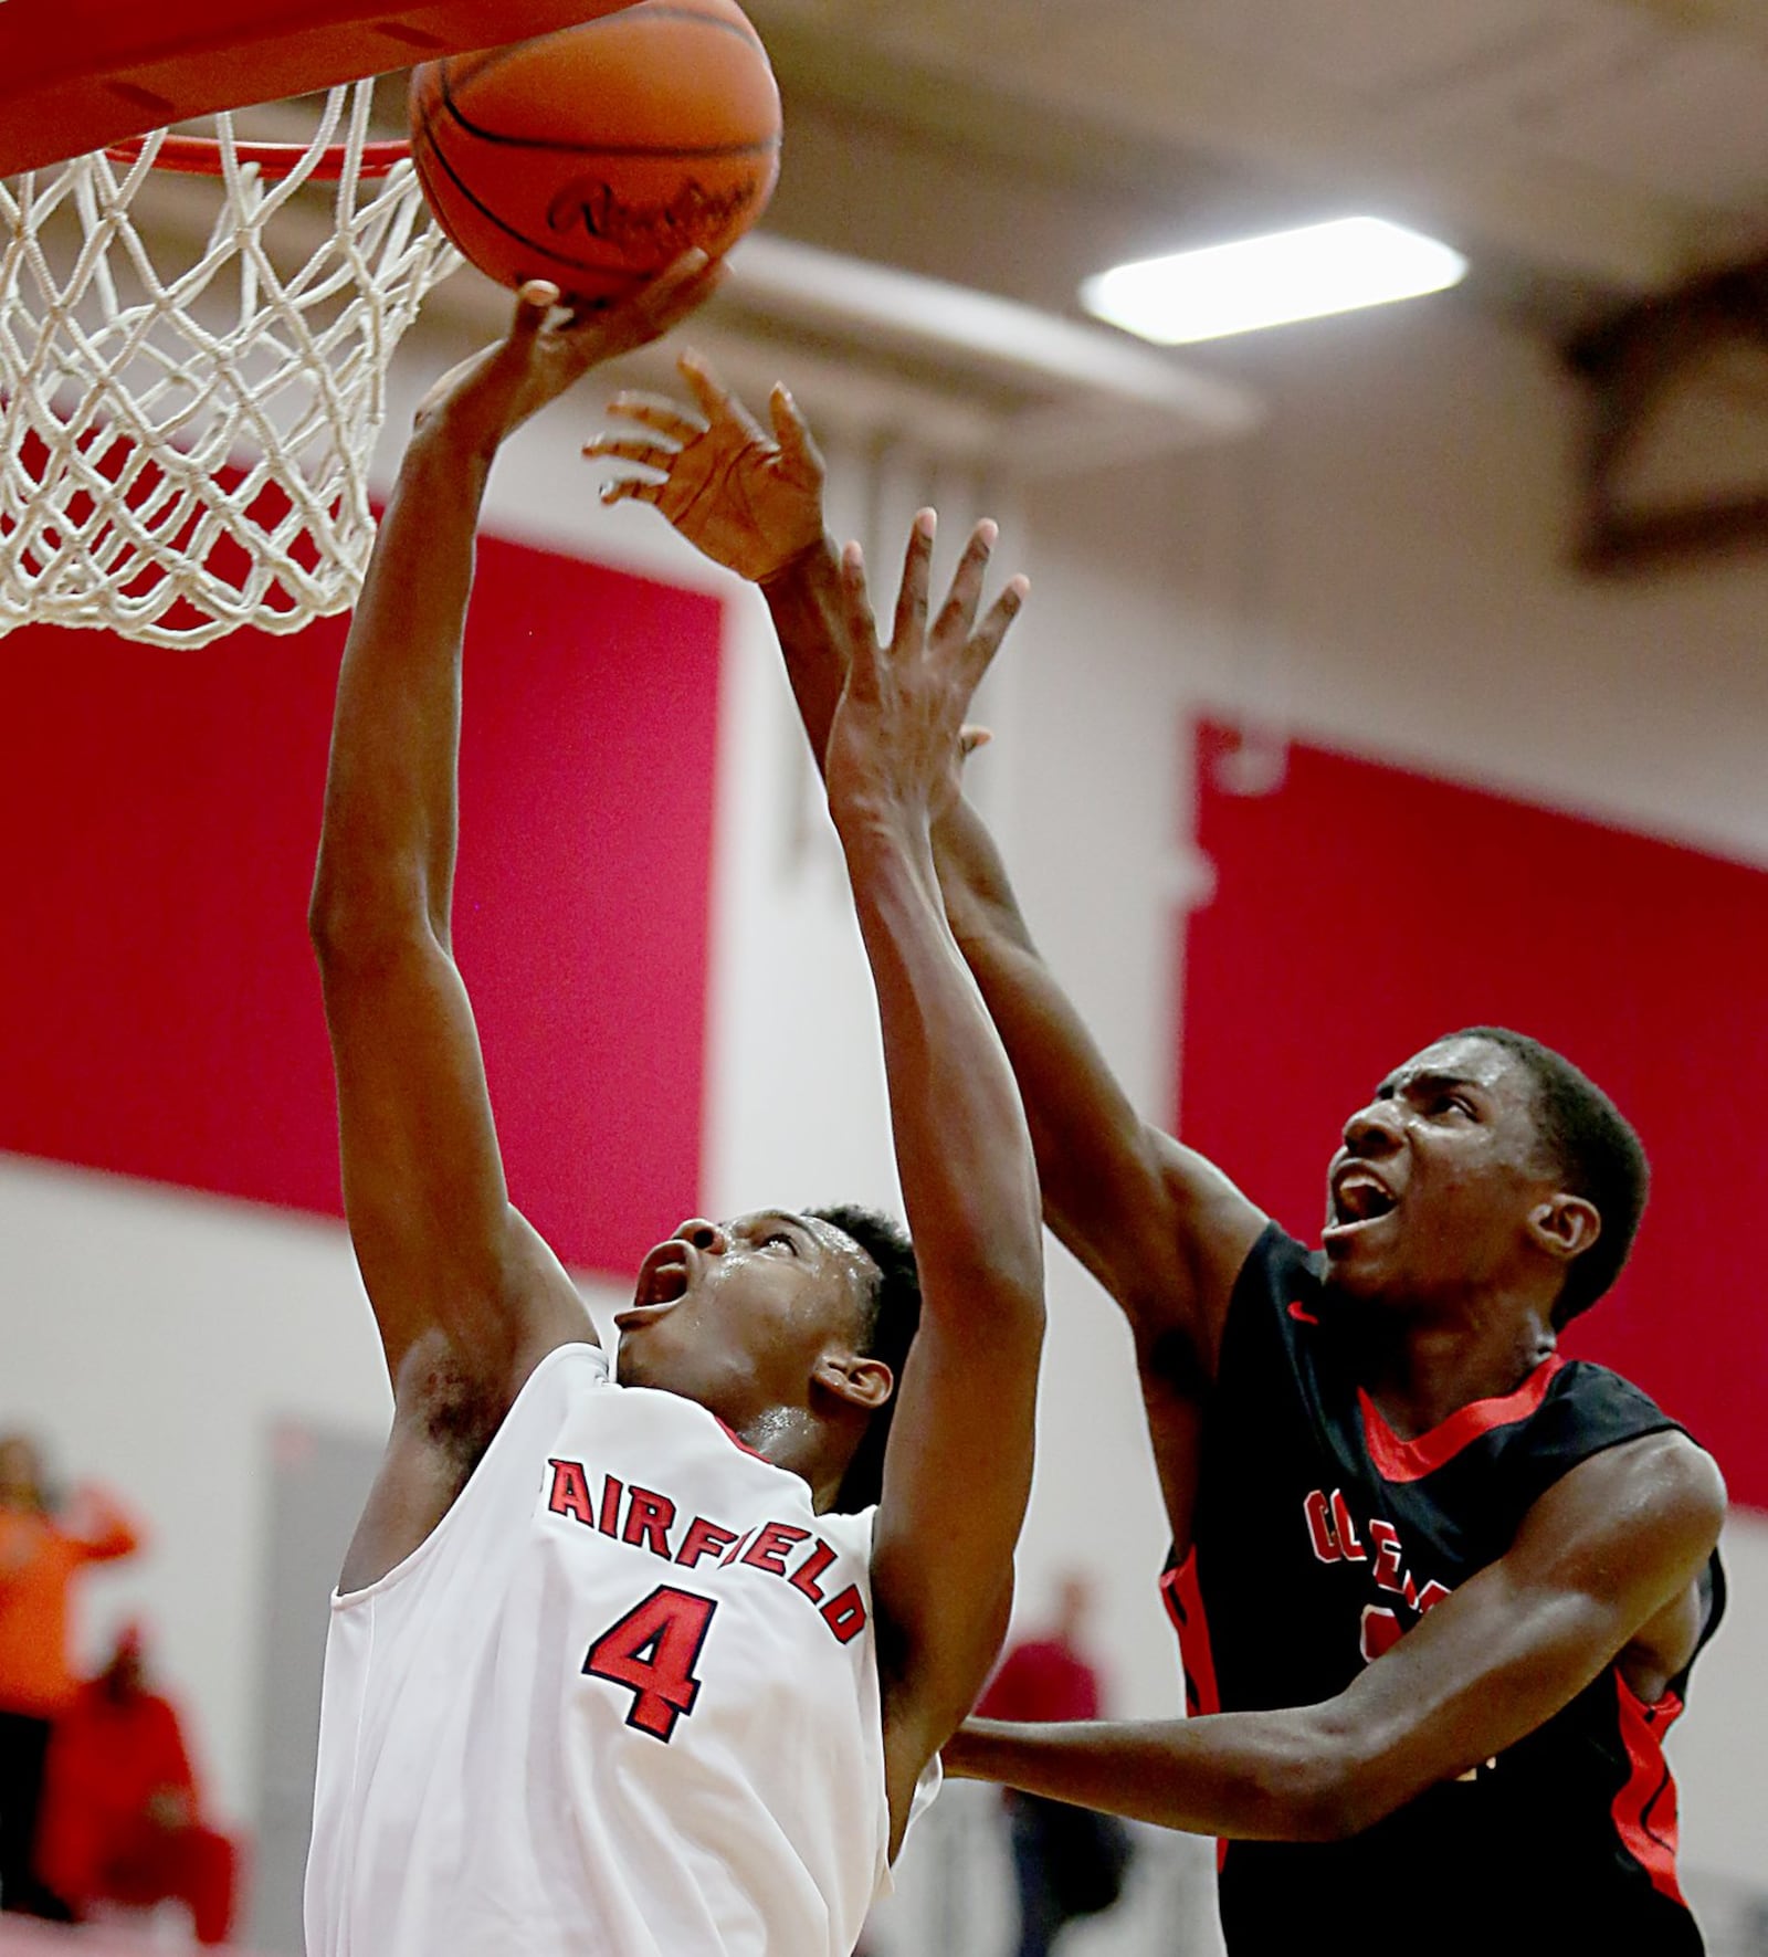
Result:
{"label": "black-jersey player's open raised hand just below the basketball", "polygon": [[601,501],[650,503],[715,564],[766,583],[822,542],[822,456],[783,386],[768,401],[769,436],[697,354],[675,366],[699,415],[656,395],[617,395],[609,413],[642,432],[597,434],[583,454],[662,479],[611,481]]}

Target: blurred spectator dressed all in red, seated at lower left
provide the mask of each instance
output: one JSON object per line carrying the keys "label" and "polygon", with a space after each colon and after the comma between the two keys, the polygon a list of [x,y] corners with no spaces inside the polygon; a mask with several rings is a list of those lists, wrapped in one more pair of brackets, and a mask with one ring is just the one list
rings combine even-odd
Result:
{"label": "blurred spectator dressed all in red, seated at lower left", "polygon": [[76,1922],[96,1902],[190,1908],[198,1943],[225,1943],[235,1849],[204,1824],[178,1712],[149,1689],[141,1630],[57,1722],[43,1777],[37,1865]]}

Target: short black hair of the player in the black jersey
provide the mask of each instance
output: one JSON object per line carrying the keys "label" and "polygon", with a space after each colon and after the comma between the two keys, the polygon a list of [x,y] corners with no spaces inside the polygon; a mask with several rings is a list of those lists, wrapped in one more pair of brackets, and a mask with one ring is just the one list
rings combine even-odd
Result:
{"label": "short black hair of the player in the black jersey", "polygon": [[1535,1125],[1572,1196],[1594,1204],[1602,1235],[1572,1258],[1553,1307],[1553,1323],[1570,1325],[1619,1278],[1639,1235],[1651,1192],[1651,1162],[1633,1123],[1602,1088],[1562,1053],[1506,1025],[1468,1025],[1453,1039],[1484,1039],[1527,1067],[1535,1082]]}

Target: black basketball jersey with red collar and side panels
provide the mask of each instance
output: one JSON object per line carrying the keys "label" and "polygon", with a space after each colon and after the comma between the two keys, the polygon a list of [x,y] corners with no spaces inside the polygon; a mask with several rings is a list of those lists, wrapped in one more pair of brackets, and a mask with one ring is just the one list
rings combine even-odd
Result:
{"label": "black basketball jersey with red collar and side panels", "polygon": [[[1230,1303],[1194,1548],[1163,1583],[1192,1712],[1333,1699],[1500,1558],[1553,1481],[1676,1425],[1607,1368],[1555,1356],[1400,1440],[1345,1348],[1322,1260],[1273,1225]],[[1717,1558],[1709,1579],[1701,1642],[1723,1605]],[[1662,1755],[1686,1675],[1649,1707],[1611,1667],[1468,1779],[1349,1842],[1226,1843],[1230,1951],[1699,1953]]]}

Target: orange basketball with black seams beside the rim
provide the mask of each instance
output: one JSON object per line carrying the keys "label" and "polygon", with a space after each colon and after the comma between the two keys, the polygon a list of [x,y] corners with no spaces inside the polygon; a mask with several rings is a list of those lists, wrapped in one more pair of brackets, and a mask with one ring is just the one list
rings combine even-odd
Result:
{"label": "orange basketball with black seams beside the rim", "polygon": [[411,76],[431,209],[491,278],[605,303],[726,252],[779,174],[779,90],[734,0],[640,0]]}

